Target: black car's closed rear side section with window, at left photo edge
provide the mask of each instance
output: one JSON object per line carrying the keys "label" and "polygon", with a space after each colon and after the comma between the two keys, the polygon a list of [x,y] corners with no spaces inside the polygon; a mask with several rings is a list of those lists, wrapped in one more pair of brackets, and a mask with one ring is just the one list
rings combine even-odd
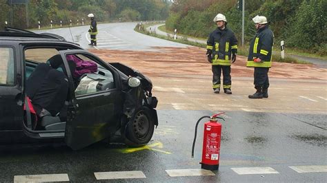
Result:
{"label": "black car's closed rear side section with window, at left photo edge", "polygon": [[[3,41],[5,42],[5,41]],[[0,131],[19,130],[23,122],[21,62],[17,47],[0,45]],[[1,137],[0,142],[4,138]]]}

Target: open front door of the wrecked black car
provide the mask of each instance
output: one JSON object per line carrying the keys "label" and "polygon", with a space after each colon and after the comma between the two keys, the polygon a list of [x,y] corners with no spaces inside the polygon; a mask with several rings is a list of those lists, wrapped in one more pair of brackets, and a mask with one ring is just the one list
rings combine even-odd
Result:
{"label": "open front door of the wrecked black car", "polygon": [[[81,149],[92,143],[99,142],[108,138],[110,133],[119,126],[121,116],[121,89],[117,87],[119,80],[118,74],[114,69],[110,69],[105,63],[101,63],[99,58],[82,50],[70,50],[60,52],[65,67],[69,70],[70,66],[66,58],[72,55],[82,58],[83,61],[93,61],[102,64],[101,76],[112,77],[115,87],[107,88],[103,91],[86,89],[82,91],[86,83],[81,82],[76,85],[74,71],[68,71],[70,83],[70,105],[68,107],[68,121],[66,123],[66,144],[72,149]],[[68,57],[67,57],[68,56]],[[95,74],[97,74],[100,71]],[[99,76],[99,77],[101,77]],[[81,86],[80,86],[81,85]],[[98,87],[98,85],[97,85]],[[72,89],[73,88],[73,89]],[[75,89],[76,88],[76,89]],[[82,92],[81,92],[82,91]]]}

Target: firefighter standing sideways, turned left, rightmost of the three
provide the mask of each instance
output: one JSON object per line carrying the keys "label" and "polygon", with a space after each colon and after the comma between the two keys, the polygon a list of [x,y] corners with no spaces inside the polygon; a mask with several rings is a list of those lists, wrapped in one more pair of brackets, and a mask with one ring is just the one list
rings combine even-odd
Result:
{"label": "firefighter standing sideways, turned left, rightmost of the three", "polygon": [[257,92],[248,98],[268,98],[268,71],[273,58],[274,34],[266,17],[257,15],[252,20],[255,22],[257,33],[250,43],[246,67],[255,67],[254,84]]}

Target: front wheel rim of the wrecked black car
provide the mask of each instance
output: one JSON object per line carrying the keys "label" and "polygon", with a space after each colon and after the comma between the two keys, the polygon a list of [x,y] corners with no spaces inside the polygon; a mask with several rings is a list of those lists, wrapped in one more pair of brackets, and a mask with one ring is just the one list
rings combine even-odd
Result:
{"label": "front wheel rim of the wrecked black car", "polygon": [[133,131],[137,138],[145,138],[148,135],[150,122],[142,112],[137,114],[133,122]]}

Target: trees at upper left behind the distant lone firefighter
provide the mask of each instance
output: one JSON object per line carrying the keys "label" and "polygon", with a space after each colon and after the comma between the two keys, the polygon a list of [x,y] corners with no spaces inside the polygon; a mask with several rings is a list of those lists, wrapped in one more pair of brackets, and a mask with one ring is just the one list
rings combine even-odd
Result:
{"label": "trees at upper left behind the distant lone firefighter", "polygon": [[[14,2],[14,1],[12,1]],[[68,25],[70,20],[88,21],[87,15],[95,14],[97,21],[150,21],[168,17],[169,4],[166,0],[28,0],[26,4],[10,4],[0,0],[0,27],[5,21],[15,28],[37,28],[38,22],[48,26]],[[12,10],[12,11],[11,11]],[[27,13],[26,13],[27,12]],[[12,16],[11,16],[12,14]],[[28,17],[26,17],[26,14]]]}

